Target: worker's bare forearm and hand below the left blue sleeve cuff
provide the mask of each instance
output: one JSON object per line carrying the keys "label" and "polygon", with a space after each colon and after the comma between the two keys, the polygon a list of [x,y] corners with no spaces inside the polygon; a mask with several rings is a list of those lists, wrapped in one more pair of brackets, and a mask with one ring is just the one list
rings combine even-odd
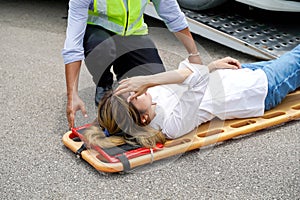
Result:
{"label": "worker's bare forearm and hand below the left blue sleeve cuff", "polygon": [[69,128],[74,127],[75,115],[78,110],[87,117],[83,101],[78,96],[78,81],[81,61],[72,62],[65,65],[66,85],[67,85],[67,119]]}

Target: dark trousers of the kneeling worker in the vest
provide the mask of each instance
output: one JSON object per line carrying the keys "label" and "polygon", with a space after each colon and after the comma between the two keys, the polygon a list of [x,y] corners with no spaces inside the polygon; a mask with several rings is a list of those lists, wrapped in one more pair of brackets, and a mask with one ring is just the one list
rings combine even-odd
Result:
{"label": "dark trousers of the kneeling worker in the vest", "polygon": [[165,71],[148,35],[119,36],[102,27],[87,25],[83,46],[85,64],[99,87],[112,85],[111,66],[117,80]]}

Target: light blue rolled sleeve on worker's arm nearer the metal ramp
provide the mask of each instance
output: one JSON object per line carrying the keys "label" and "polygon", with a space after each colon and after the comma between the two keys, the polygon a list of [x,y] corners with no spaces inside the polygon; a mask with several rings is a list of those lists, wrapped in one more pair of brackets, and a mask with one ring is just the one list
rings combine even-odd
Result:
{"label": "light blue rolled sleeve on worker's arm nearer the metal ramp", "polygon": [[157,14],[171,32],[178,32],[188,27],[184,13],[176,0],[152,0]]}

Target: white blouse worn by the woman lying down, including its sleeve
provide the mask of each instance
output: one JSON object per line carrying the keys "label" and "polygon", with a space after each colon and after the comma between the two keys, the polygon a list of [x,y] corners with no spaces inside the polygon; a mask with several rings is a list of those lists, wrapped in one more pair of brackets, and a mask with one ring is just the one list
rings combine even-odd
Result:
{"label": "white blouse worn by the woman lying down, including its sleeve", "polygon": [[268,81],[262,70],[219,69],[209,73],[206,66],[188,60],[180,63],[179,68],[184,67],[193,73],[182,85],[148,89],[157,103],[150,126],[161,129],[167,138],[178,138],[215,117],[225,120],[263,115]]}

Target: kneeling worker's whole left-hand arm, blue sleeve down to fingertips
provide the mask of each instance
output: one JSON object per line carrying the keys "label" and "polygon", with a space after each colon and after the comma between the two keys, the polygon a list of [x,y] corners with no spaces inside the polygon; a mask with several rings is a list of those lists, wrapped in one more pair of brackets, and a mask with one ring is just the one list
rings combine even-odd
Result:
{"label": "kneeling worker's whole left-hand arm, blue sleeve down to fingertips", "polygon": [[88,18],[90,0],[70,0],[68,27],[62,55],[65,64],[67,85],[67,119],[69,128],[74,127],[76,111],[81,110],[86,116],[84,103],[78,96],[78,78],[81,60],[84,59],[83,37]]}

